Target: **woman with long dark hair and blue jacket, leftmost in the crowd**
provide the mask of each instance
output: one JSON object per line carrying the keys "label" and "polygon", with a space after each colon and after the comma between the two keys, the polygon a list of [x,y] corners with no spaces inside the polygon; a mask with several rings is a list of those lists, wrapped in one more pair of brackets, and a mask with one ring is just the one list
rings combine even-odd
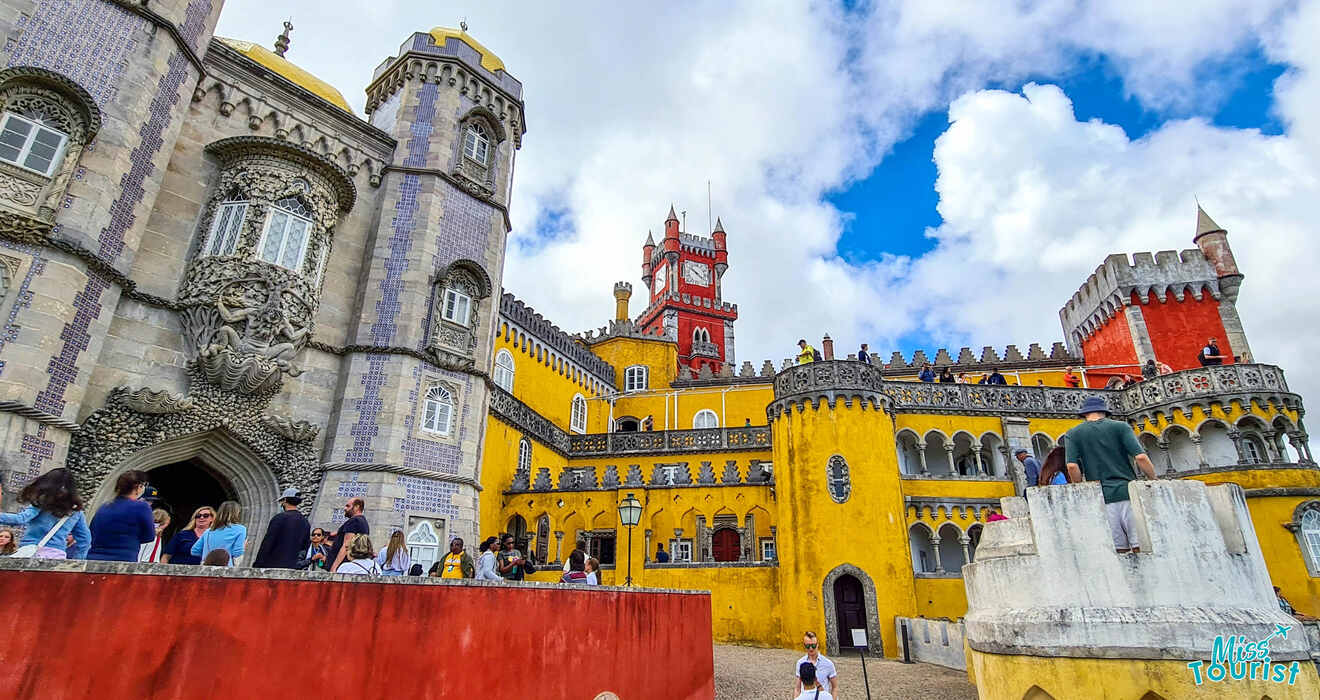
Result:
{"label": "woman with long dark hair and blue jacket, leftmost in the crowd", "polygon": [[[67,469],[51,469],[18,493],[28,507],[18,512],[0,512],[0,524],[26,526],[20,547],[32,545],[38,559],[84,559],[91,547],[91,532],[83,518],[74,475]],[[148,511],[149,512],[149,511]],[[148,515],[148,520],[150,515]],[[65,547],[69,535],[73,547]],[[135,549],[136,555],[137,551]],[[18,555],[21,556],[21,555]],[[135,556],[136,559],[136,556]]]}

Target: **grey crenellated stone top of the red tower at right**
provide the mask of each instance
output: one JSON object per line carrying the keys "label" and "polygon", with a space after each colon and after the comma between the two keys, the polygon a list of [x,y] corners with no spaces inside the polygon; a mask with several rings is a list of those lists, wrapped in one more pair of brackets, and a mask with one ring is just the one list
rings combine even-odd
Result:
{"label": "grey crenellated stone top of the red tower at right", "polygon": [[1074,332],[1089,335],[1100,329],[1118,309],[1131,302],[1133,295],[1148,304],[1154,295],[1162,302],[1168,296],[1179,301],[1191,295],[1201,300],[1205,293],[1220,298],[1220,279],[1214,265],[1197,248],[1181,252],[1138,252],[1131,260],[1123,254],[1105,258],[1096,272],[1059,310],[1065,335]]}

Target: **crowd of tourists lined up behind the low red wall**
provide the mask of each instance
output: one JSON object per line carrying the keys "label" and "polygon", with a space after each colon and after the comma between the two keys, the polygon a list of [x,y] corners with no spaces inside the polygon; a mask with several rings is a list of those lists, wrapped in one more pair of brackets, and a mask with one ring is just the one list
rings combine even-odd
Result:
{"label": "crowd of tourists lined up behind the low red wall", "polygon": [[[176,565],[234,567],[246,553],[248,539],[243,510],[226,501],[219,507],[202,506],[169,540],[170,514],[152,508],[154,490],[145,472],[125,472],[115,483],[115,498],[98,508],[88,522],[73,474],[51,469],[20,494],[26,507],[0,512],[0,526],[22,526],[21,536],[0,528],[0,556],[32,559],[88,559],[100,561],[140,561]],[[144,498],[147,497],[147,498]],[[422,576],[422,565],[412,560],[404,532],[393,530],[384,547],[371,542],[371,524],[360,498],[343,506],[345,522],[335,531],[313,528],[298,510],[296,489],[280,497],[281,511],[271,519],[252,565],[273,569],[310,569],[345,576]],[[486,538],[478,557],[465,548],[462,538],[449,543],[449,552],[425,576],[433,578],[477,578],[521,581],[536,565],[517,549],[512,535]],[[586,543],[564,564],[562,582],[598,585],[601,563],[586,553]]]}

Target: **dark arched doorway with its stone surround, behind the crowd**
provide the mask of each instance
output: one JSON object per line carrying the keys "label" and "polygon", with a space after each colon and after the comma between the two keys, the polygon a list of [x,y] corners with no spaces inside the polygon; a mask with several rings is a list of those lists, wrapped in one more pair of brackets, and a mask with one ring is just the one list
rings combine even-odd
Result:
{"label": "dark arched doorway with its stone surround, behind the crowd", "polygon": [[[247,526],[247,552],[239,564],[248,564],[256,556],[257,544],[265,536],[265,526],[279,508],[280,485],[265,461],[238,440],[228,431],[210,431],[176,437],[140,449],[116,465],[100,481],[88,508],[95,516],[96,508],[115,497],[115,481],[124,472],[140,469],[147,472],[152,485],[161,489],[164,483],[183,499],[230,498],[243,507],[243,524]],[[164,494],[162,494],[164,495]],[[313,497],[314,494],[308,494]],[[304,501],[309,503],[310,498]],[[218,506],[219,502],[206,503]],[[310,503],[309,503],[310,505]],[[191,510],[182,512],[180,505],[172,527],[186,523]]]}

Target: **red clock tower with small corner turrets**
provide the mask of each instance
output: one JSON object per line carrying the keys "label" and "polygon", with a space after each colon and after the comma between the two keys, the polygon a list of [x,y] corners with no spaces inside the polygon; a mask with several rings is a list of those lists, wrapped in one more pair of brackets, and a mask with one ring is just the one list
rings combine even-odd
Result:
{"label": "red clock tower with small corner turrets", "polygon": [[725,226],[715,219],[710,238],[678,230],[678,217],[669,207],[664,239],[656,246],[651,234],[642,247],[642,281],[649,305],[638,318],[645,333],[656,329],[678,342],[678,365],[718,374],[734,363],[734,321],[738,305],[723,301],[719,280],[729,269]]}

